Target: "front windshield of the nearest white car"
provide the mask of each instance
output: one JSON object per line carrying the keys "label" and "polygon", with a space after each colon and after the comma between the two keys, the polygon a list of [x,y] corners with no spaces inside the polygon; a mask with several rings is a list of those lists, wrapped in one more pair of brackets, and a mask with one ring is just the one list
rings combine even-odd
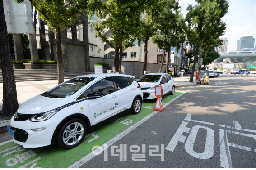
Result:
{"label": "front windshield of the nearest white car", "polygon": [[93,77],[73,78],[41,95],[50,98],[65,98],[66,96],[75,94],[79,89],[83,88],[94,79]]}

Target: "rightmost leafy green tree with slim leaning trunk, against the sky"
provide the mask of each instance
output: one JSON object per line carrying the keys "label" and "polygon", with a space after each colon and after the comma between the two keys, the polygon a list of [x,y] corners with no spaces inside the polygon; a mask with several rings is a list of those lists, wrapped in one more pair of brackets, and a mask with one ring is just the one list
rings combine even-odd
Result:
{"label": "rightmost leafy green tree with slim leaning trunk, against the sky", "polygon": [[216,40],[224,34],[226,23],[222,21],[228,12],[227,0],[195,0],[198,4],[189,5],[186,10],[183,30],[190,44],[195,46],[195,58],[190,76],[193,82],[195,64],[200,50],[200,46],[206,41]]}

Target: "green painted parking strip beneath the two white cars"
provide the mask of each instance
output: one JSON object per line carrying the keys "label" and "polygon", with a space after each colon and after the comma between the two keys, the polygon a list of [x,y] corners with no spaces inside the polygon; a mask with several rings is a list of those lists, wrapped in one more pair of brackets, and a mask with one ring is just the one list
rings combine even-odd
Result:
{"label": "green painted parking strip beneath the two white cars", "polygon": [[[175,92],[175,94],[178,95],[165,96],[162,100],[163,105],[178,97],[182,93],[183,92]],[[142,103],[143,107],[154,107],[154,105],[154,100],[144,100]],[[122,119],[120,118],[119,120],[116,120],[116,122],[109,121],[106,124],[98,127],[97,129],[94,129],[93,131],[87,133],[92,134],[93,132],[95,132],[93,135],[95,135],[96,137],[98,136],[98,138],[90,135],[86,137],[79,146],[70,150],[65,150],[59,147],[51,149],[24,149],[22,146],[17,147],[18,144],[14,142],[4,144],[0,146],[0,168],[18,168],[20,166],[25,166],[27,168],[67,168],[74,164],[76,161],[79,161],[81,158],[88,155],[90,152],[92,152],[93,146],[102,146],[104,143],[111,140],[116,135],[120,134],[124,130],[128,129],[130,126],[142,120],[144,117],[150,115],[152,112],[154,112],[153,109],[142,108],[140,113],[137,115],[134,115],[130,112],[126,113],[121,116]],[[7,149],[9,150],[5,151]],[[8,154],[15,150],[17,150],[18,152]]]}

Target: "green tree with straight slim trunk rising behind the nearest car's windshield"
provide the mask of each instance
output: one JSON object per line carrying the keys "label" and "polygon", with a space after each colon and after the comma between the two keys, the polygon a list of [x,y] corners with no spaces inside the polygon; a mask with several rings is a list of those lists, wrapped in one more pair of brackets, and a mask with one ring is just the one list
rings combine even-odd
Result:
{"label": "green tree with straight slim trunk rising behind the nearest car's windshield", "polygon": [[[16,0],[22,3],[24,0]],[[56,57],[58,64],[58,82],[64,81],[64,68],[61,50],[61,31],[73,25],[75,18],[83,16],[87,8],[86,0],[29,0],[32,6],[40,13],[40,17],[47,22],[47,26],[56,32]]]}

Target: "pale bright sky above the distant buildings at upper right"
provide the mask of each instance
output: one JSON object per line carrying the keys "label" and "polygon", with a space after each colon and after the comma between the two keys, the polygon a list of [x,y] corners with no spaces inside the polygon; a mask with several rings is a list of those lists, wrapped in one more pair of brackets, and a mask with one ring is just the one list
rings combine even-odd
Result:
{"label": "pale bright sky above the distant buildings at upper right", "polygon": [[[179,0],[179,3],[184,15],[189,4],[196,4],[195,0]],[[241,37],[256,38],[256,0],[229,0],[228,13],[223,17],[223,21],[226,22],[227,28],[225,35],[220,38],[228,38],[228,51],[236,51],[237,40]]]}

